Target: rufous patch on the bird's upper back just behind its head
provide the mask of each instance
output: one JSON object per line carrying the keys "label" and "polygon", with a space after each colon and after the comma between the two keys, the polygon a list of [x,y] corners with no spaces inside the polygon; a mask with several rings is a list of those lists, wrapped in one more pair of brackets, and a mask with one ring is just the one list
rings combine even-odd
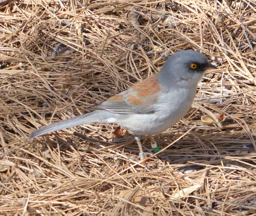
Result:
{"label": "rufous patch on the bird's upper back just behind its head", "polygon": [[149,95],[156,95],[160,92],[161,87],[156,79],[156,75],[153,75],[140,83],[135,84],[132,87],[132,90],[137,92],[137,96],[149,96]]}

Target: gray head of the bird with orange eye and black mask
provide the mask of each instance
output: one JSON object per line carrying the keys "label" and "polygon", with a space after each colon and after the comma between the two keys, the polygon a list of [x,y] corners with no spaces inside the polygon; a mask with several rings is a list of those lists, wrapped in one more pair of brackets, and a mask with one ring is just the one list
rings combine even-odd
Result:
{"label": "gray head of the bird with orange eye and black mask", "polygon": [[216,69],[200,52],[183,50],[170,56],[161,71],[159,78],[167,82],[181,85],[197,85],[207,69]]}

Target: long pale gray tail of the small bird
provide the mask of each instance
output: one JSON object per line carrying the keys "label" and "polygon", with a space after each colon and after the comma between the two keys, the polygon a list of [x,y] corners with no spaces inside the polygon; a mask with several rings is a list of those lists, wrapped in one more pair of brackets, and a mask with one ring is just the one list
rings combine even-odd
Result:
{"label": "long pale gray tail of the small bird", "polygon": [[106,119],[104,121],[104,119],[102,119],[102,116],[104,115],[101,115],[101,111],[95,111],[95,112],[90,112],[74,118],[65,119],[65,120],[62,120],[61,122],[44,126],[44,127],[41,127],[41,129],[33,131],[32,133],[30,133],[29,140],[42,136],[43,134],[46,134],[46,133],[67,129],[69,127],[75,127],[83,124],[104,123],[104,122],[110,123],[107,121],[107,117],[105,117]]}

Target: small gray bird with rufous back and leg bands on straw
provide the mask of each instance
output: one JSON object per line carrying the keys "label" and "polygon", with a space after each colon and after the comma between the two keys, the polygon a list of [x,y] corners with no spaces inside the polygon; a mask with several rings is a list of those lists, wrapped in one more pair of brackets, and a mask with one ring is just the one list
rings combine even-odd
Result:
{"label": "small gray bird with rufous back and leg bands on straw", "polygon": [[141,136],[149,136],[154,152],[158,152],[153,135],[166,131],[185,116],[193,103],[199,81],[210,69],[217,68],[201,52],[175,52],[158,73],[111,96],[100,105],[88,107],[87,110],[92,112],[33,131],[29,139],[83,124],[117,124],[135,135],[140,159],[146,163]]}

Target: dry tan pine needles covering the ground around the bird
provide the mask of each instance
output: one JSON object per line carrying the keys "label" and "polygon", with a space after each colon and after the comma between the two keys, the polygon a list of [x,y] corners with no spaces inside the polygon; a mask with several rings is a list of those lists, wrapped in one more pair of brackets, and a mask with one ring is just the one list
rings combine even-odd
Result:
{"label": "dry tan pine needles covering the ground around the bird", "polygon": [[[0,4],[1,214],[255,215],[255,4]],[[148,169],[131,160],[134,139],[113,138],[116,125],[27,140],[159,71],[167,51],[185,49],[201,51],[218,70],[204,77],[183,122],[155,136],[160,149],[177,141]],[[202,122],[207,112],[225,115],[222,129]],[[149,152],[149,140],[143,144]]]}

